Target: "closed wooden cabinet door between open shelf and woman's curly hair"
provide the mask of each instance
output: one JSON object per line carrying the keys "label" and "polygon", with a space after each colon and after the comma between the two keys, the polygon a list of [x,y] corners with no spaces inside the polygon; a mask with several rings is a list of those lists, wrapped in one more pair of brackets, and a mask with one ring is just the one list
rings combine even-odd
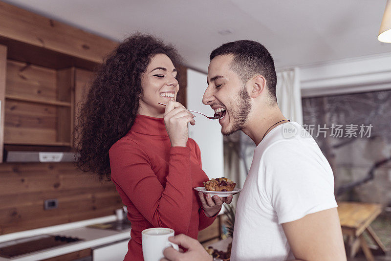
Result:
{"label": "closed wooden cabinet door between open shelf and woman's curly hair", "polygon": [[[75,109],[74,109],[74,121],[75,127],[78,125],[77,117],[79,116],[80,108],[83,102],[83,98],[87,95],[90,82],[92,80],[92,71],[75,68]],[[77,140],[73,144],[76,147]]]}

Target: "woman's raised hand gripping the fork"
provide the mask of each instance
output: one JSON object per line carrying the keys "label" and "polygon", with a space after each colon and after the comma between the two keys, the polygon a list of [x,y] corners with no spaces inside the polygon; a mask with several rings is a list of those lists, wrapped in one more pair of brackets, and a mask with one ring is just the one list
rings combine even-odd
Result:
{"label": "woman's raised hand gripping the fork", "polygon": [[183,105],[175,101],[169,101],[164,112],[164,124],[170,137],[171,146],[186,147],[189,139],[187,124],[195,125],[195,116]]}

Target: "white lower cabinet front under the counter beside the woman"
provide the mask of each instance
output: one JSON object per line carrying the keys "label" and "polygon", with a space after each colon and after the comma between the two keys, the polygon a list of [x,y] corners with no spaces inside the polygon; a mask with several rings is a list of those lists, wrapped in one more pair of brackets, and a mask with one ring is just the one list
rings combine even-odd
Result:
{"label": "white lower cabinet front under the counter beside the woman", "polygon": [[119,241],[92,250],[92,261],[123,261],[128,253],[129,240]]}

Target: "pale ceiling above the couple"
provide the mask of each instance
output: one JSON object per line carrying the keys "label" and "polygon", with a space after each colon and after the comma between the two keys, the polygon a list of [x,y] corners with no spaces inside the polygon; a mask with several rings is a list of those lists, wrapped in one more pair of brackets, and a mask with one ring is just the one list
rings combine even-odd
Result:
{"label": "pale ceiling above the couple", "polygon": [[132,32],[174,43],[186,65],[206,71],[222,43],[261,42],[277,68],[391,55],[380,43],[386,0],[4,0],[121,41]]}

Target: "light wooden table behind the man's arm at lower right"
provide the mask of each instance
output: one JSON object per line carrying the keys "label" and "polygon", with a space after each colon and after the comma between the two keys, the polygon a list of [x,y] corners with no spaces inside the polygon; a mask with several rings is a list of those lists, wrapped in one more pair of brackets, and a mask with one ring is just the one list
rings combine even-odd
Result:
{"label": "light wooden table behind the man's arm at lower right", "polygon": [[371,249],[364,239],[366,231],[373,242],[378,246],[381,254],[385,255],[385,247],[370,227],[370,223],[382,212],[380,204],[361,202],[338,202],[338,215],[341,222],[342,234],[348,236],[347,254],[354,257],[361,247],[366,259],[374,261]]}

